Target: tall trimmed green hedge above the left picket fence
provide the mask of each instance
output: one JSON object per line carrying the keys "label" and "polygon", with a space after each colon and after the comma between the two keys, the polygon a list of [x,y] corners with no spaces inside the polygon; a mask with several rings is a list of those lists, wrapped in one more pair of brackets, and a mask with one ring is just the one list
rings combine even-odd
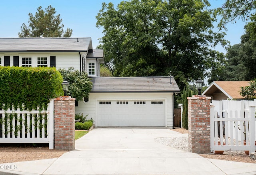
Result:
{"label": "tall trimmed green hedge above the left picket fence", "polygon": [[[63,79],[50,67],[0,67],[0,108],[32,110],[63,94]],[[2,104],[5,104],[4,106]]]}

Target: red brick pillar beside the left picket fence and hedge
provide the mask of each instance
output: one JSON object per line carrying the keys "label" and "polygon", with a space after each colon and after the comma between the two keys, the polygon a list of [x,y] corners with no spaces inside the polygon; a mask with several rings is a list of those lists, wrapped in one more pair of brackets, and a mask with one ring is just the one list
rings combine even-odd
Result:
{"label": "red brick pillar beside the left picket fence and hedge", "polygon": [[70,96],[54,99],[54,147],[75,149],[75,98]]}

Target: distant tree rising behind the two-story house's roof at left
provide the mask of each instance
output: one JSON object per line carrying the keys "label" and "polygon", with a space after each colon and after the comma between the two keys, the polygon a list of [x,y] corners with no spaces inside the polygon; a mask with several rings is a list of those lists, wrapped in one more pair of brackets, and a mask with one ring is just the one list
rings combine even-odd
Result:
{"label": "distant tree rising behind the two-story house's roof at left", "polygon": [[29,13],[28,26],[22,24],[19,37],[70,37],[72,29],[67,28],[63,31],[64,25],[60,14],[55,15],[56,10],[51,5],[45,10],[42,7],[37,8],[35,16]]}

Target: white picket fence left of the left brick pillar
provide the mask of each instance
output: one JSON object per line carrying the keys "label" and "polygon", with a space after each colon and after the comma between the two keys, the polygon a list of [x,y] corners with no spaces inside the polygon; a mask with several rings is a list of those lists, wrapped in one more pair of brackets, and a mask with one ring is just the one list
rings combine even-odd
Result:
{"label": "white picket fence left of the left brick pillar", "polygon": [[12,107],[0,110],[0,143],[49,143],[49,149],[53,149],[54,100],[46,110],[38,109],[27,111]]}

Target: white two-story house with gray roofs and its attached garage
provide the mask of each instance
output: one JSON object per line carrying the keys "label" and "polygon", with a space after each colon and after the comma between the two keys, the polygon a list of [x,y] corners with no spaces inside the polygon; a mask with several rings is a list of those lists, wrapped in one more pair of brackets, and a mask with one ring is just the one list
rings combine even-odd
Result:
{"label": "white two-story house with gray roofs and its attached garage", "polygon": [[76,113],[88,114],[95,126],[173,126],[173,77],[100,77],[101,49],[91,38],[0,38],[0,65],[74,67],[88,73],[93,87],[78,102]]}

